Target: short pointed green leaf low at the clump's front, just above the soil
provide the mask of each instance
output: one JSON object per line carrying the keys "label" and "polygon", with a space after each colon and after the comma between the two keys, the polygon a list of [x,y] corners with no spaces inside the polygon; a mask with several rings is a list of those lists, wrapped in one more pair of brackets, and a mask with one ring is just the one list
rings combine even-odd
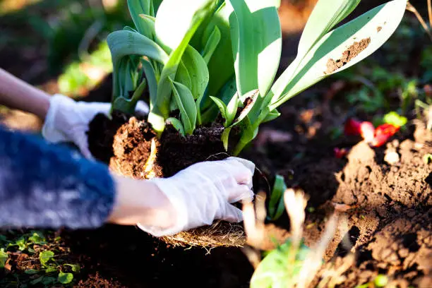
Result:
{"label": "short pointed green leaf low at the clump's front, just above the soil", "polygon": [[181,84],[171,80],[172,90],[174,92],[174,100],[180,110],[181,123],[184,126],[184,132],[191,135],[196,126],[196,106],[191,90]]}

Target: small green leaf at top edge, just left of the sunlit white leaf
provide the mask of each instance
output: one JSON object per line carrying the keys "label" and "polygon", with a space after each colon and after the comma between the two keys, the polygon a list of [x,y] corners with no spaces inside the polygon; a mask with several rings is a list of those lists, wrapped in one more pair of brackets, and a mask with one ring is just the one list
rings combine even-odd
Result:
{"label": "small green leaf at top edge, just left of the sunlit white leaf", "polygon": [[[140,34],[151,40],[155,39],[155,23],[145,16],[152,15],[153,4],[151,0],[128,0],[128,9],[136,29]],[[143,17],[144,15],[144,17]]]}

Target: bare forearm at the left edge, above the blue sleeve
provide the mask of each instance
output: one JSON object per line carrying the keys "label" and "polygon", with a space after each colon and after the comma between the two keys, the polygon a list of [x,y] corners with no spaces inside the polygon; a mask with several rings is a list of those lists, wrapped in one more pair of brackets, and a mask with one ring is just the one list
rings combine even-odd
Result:
{"label": "bare forearm at the left edge, above the blue sleeve", "polygon": [[30,112],[43,120],[49,108],[49,95],[0,68],[0,104]]}

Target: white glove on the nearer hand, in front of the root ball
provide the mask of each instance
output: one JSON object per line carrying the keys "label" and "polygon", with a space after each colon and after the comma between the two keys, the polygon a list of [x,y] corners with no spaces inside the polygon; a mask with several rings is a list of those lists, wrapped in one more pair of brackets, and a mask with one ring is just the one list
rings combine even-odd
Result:
{"label": "white glove on the nearer hand, in front of the root ball", "polygon": [[241,222],[241,210],[231,203],[253,199],[252,176],[255,164],[229,157],[200,162],[170,178],[150,179],[172,204],[175,224],[168,229],[138,227],[154,236],[167,236],[212,224],[213,220]]}

